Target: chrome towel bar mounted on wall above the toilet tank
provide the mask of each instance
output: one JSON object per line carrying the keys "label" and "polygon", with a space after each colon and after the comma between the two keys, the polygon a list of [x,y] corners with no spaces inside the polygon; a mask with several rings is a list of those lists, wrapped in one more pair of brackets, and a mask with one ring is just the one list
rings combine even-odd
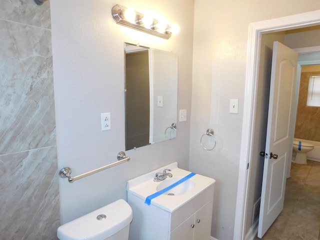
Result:
{"label": "chrome towel bar mounted on wall above the toilet tank", "polygon": [[118,165],[122,162],[125,162],[125,161],[129,161],[130,160],[130,157],[129,156],[125,156],[125,153],[123,151],[120,151],[118,154],[117,154],[117,159],[118,161],[115,161],[115,162],[112,162],[110,164],[107,164],[105,166],[101,166],[99,168],[96,168],[94,170],[91,170],[91,171],[88,171],[88,172],[85,172],[85,173],[82,173],[82,174],[79,174],[77,176],[70,176],[71,174],[71,168],[66,166],[66,167],[63,167],[60,169],[59,171],[59,176],[62,177],[62,178],[65,178],[67,177],[68,178],[68,181],[69,182],[73,182],[77,179],[80,179],[82,177],[85,177],[85,176],[88,176],[88,175],[91,175],[93,173],[96,173],[98,171],[102,171],[106,168],[109,168],[109,167],[112,167],[112,166],[115,166],[115,165]]}

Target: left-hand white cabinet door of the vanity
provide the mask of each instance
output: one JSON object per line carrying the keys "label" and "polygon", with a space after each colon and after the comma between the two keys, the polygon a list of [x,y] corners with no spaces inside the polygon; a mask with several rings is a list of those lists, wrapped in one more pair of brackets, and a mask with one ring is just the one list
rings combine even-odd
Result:
{"label": "left-hand white cabinet door of the vanity", "polygon": [[[193,227],[192,227],[193,224]],[[170,240],[192,240],[194,229],[194,214],[183,221],[178,227],[171,231]]]}

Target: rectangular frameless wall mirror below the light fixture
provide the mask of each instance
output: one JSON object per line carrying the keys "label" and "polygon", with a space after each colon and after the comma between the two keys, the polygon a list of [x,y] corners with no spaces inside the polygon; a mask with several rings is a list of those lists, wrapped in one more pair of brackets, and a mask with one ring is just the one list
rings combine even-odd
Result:
{"label": "rectangular frameless wall mirror below the light fixture", "polygon": [[177,54],[125,43],[125,150],[176,137]]}

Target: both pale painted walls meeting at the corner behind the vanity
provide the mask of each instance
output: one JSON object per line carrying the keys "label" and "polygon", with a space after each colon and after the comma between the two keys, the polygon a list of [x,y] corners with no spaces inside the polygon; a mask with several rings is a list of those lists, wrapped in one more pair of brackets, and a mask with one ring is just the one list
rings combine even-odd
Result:
{"label": "both pale painted walls meeting at the corner behind the vanity", "polygon": [[[188,120],[178,122],[175,139],[127,151],[132,159],[128,163],[72,184],[59,179],[62,222],[126,198],[127,179],[177,160],[180,167],[217,180],[211,235],[232,239],[248,24],[315,10],[320,2],[195,0],[193,45],[193,0],[116,2],[178,23],[180,33],[169,40],[115,24],[110,15],[113,1],[92,2],[50,1],[58,169],[68,165],[77,175],[115,161],[124,149],[124,41],[178,53],[178,109],[188,110]],[[239,99],[239,114],[228,113],[230,98]],[[101,132],[99,116],[107,111],[112,128]],[[217,139],[210,152],[199,144],[209,127]]]}

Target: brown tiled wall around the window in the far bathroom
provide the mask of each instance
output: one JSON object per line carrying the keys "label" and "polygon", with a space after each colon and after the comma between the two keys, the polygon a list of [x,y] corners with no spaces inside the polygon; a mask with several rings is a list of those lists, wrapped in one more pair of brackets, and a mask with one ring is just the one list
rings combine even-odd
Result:
{"label": "brown tiled wall around the window in the far bathroom", "polygon": [[294,137],[320,141],[320,107],[306,105],[309,76],[315,74],[320,71],[301,72]]}

